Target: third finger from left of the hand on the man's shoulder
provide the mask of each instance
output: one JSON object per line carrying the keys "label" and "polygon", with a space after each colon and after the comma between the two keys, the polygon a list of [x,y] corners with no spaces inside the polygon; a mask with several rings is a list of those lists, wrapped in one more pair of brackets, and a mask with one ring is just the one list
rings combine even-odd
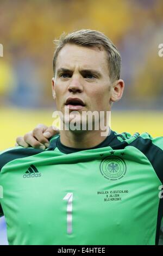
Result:
{"label": "third finger from left of the hand on the man's shoulder", "polygon": [[39,141],[41,144],[45,145],[46,148],[49,146],[49,141],[47,138],[43,136],[43,132],[47,129],[47,126],[45,125],[37,125],[37,127],[33,130],[33,136],[37,141]]}

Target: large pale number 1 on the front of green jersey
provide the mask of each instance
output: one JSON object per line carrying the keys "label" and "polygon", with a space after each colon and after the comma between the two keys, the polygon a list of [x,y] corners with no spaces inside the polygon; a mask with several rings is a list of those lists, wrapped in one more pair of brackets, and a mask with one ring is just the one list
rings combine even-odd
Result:
{"label": "large pale number 1 on the front of green jersey", "polygon": [[72,199],[73,193],[67,193],[63,200],[67,200],[67,233],[72,233]]}

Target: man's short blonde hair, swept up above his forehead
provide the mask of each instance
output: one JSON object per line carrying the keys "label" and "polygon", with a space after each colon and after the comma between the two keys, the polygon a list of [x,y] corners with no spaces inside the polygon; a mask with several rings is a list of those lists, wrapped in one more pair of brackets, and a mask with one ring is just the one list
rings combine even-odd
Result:
{"label": "man's short blonde hair, swept up above his forehead", "polygon": [[83,47],[98,48],[103,47],[108,56],[109,76],[110,80],[114,82],[120,79],[121,72],[121,55],[117,50],[117,47],[113,42],[99,31],[93,31],[91,29],[82,29],[69,34],[63,33],[59,40],[54,40],[54,44],[57,46],[54,52],[53,58],[53,71],[55,74],[55,65],[58,57],[58,53],[66,44],[76,44]]}

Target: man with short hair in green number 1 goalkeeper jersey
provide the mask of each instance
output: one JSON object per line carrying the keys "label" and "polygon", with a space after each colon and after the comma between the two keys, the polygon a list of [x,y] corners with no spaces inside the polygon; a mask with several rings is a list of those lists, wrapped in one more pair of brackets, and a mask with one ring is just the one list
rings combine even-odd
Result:
{"label": "man with short hair in green number 1 goalkeeper jersey", "polygon": [[[37,127],[17,139],[37,149],[0,155],[0,212],[10,244],[158,244],[163,138],[109,131],[107,114],[124,89],[120,67],[117,48],[100,32],[59,40],[52,89],[64,129],[48,145],[51,129]],[[85,111],[96,111],[92,129],[89,118],[81,118]]]}

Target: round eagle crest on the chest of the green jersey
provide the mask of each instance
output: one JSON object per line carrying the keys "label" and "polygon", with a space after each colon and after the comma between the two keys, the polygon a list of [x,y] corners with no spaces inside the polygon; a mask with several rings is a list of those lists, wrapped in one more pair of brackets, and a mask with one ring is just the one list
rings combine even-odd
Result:
{"label": "round eagle crest on the chest of the green jersey", "polygon": [[120,180],[126,174],[126,163],[118,156],[105,157],[99,168],[104,178],[109,180]]}

